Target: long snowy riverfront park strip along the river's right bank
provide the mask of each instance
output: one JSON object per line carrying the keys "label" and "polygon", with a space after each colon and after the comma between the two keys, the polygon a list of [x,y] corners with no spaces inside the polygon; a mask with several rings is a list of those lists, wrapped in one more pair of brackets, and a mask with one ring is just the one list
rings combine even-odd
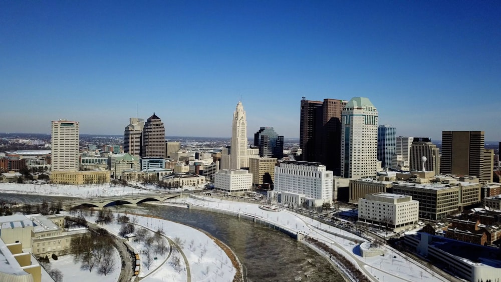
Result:
{"label": "long snowy riverfront park strip along the river's right bank", "polygon": [[211,197],[200,196],[199,198],[200,200],[193,198],[170,199],[167,202],[185,201],[200,207],[239,212],[275,225],[281,225],[290,230],[305,232],[309,237],[324,242],[350,261],[358,264],[359,269],[375,281],[382,281],[383,277],[384,281],[447,281],[444,277],[389,246],[386,246],[384,256],[364,258],[360,255],[359,243],[357,243],[366,241],[364,238],[309,217],[285,209],[280,209],[280,211],[263,210],[259,204],[226,201]]}

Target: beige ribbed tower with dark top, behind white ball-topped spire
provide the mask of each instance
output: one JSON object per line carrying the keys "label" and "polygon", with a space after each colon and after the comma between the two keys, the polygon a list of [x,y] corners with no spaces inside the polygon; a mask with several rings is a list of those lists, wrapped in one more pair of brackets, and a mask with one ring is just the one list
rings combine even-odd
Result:
{"label": "beige ribbed tower with dark top, behind white ball-topped spire", "polygon": [[424,162],[426,171],[434,171],[435,175],[440,174],[440,153],[437,146],[431,143],[430,138],[414,137],[410,147],[410,170],[423,170],[422,157],[426,157]]}

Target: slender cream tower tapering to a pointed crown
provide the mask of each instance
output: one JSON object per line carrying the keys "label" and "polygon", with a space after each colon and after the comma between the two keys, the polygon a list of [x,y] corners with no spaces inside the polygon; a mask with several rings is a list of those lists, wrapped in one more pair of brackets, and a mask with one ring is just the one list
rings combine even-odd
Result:
{"label": "slender cream tower tapering to a pointed crown", "polygon": [[231,125],[230,169],[248,167],[247,119],[241,101],[236,104]]}

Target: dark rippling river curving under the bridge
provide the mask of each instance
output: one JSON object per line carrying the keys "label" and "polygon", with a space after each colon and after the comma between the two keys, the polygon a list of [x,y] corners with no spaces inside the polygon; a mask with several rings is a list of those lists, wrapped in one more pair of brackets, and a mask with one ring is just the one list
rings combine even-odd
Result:
{"label": "dark rippling river curving under the bridge", "polygon": [[[19,202],[41,202],[44,196],[0,193]],[[48,197],[47,200],[54,200]],[[58,197],[59,199],[59,197]],[[200,228],[227,244],[244,265],[250,282],[258,281],[344,281],[321,255],[271,228],[233,216],[164,205],[117,206],[118,211],[151,214]],[[168,231],[167,231],[168,232]]]}

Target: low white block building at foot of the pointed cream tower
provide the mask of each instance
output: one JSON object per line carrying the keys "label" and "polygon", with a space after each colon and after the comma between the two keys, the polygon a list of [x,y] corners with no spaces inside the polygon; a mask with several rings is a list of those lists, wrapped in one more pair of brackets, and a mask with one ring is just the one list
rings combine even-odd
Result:
{"label": "low white block building at foot of the pointed cream tower", "polygon": [[228,193],[249,191],[252,173],[244,169],[223,169],[214,173],[214,189]]}

